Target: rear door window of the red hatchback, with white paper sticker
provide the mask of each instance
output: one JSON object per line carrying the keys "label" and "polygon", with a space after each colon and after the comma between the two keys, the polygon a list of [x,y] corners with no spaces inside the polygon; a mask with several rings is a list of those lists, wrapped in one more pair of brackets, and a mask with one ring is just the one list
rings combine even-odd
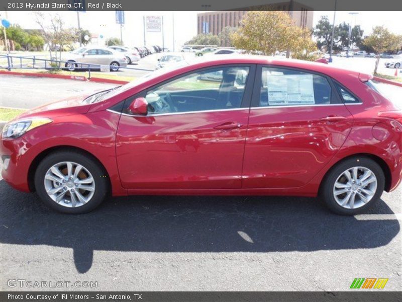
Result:
{"label": "rear door window of the red hatchback, with white paper sticker", "polygon": [[332,88],[322,75],[263,67],[260,107],[331,104]]}

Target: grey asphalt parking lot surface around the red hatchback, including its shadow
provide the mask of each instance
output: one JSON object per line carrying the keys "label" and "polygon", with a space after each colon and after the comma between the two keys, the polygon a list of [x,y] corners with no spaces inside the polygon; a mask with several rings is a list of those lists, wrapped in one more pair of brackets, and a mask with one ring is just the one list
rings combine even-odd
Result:
{"label": "grey asphalt parking lot surface around the red hatchback, including its shadow", "polygon": [[[20,108],[112,87],[4,75],[0,86],[2,106]],[[400,186],[352,217],[317,198],[217,196],[109,198],[63,215],[3,180],[0,192],[0,290],[40,290],[7,285],[25,279],[97,281],[74,290],[344,291],[370,277],[402,290]]]}

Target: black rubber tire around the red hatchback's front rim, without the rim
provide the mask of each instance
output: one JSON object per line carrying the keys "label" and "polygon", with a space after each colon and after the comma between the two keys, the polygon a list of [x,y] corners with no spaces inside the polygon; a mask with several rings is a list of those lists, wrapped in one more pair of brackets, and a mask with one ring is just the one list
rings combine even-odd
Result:
{"label": "black rubber tire around the red hatchback's front rim, without the rim", "polygon": [[[95,183],[95,192],[91,199],[84,205],[78,207],[66,207],[53,201],[47,194],[44,178],[46,172],[55,164],[60,162],[74,162],[85,167],[91,174]],[[95,160],[84,153],[76,151],[54,152],[46,156],[38,165],[35,172],[35,189],[42,201],[52,209],[68,214],[87,213],[96,208],[104,201],[109,188],[106,172]]]}

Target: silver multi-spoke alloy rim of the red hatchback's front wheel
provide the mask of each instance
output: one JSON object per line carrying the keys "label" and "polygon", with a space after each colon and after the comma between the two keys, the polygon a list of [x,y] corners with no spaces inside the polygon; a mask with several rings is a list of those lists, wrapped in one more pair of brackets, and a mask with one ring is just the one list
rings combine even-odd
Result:
{"label": "silver multi-spoke alloy rim of the red hatchback's front wheel", "polygon": [[44,185],[49,197],[65,207],[86,204],[95,192],[95,181],[91,173],[74,162],[60,162],[45,174]]}

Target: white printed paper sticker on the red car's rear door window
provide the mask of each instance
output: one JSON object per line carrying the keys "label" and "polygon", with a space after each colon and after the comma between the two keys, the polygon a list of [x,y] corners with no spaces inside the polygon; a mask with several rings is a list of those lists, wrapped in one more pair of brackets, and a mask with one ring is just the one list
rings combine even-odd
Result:
{"label": "white printed paper sticker on the red car's rear door window", "polygon": [[313,74],[267,74],[267,83],[269,106],[315,104]]}

